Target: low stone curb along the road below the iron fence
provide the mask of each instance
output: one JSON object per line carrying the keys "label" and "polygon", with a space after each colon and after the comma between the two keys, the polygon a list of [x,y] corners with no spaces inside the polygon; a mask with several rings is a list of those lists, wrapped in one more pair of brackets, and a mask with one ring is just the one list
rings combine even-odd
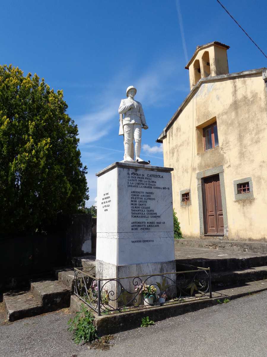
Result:
{"label": "low stone curb along the road below the iron fence", "polygon": [[[262,283],[264,282],[264,283]],[[253,284],[255,283],[255,284]],[[264,287],[261,284],[265,284]],[[253,285],[255,285],[253,287]],[[214,306],[218,304],[218,300],[224,299],[234,300],[236,298],[258,293],[267,290],[267,280],[252,282],[248,285],[248,288],[244,286],[235,287],[234,289],[225,289],[220,292],[213,292],[213,298],[207,298],[202,300],[196,300],[191,302],[183,302],[166,306],[151,307],[144,310],[136,310],[129,312],[121,312],[111,315],[98,316],[94,311],[95,326],[99,336],[118,333],[121,331],[132,330],[133,328],[140,327],[143,317],[148,316],[150,320],[161,321],[166,318],[183,315],[188,312],[204,309],[206,307]],[[234,293],[231,293],[234,291]],[[80,310],[82,301],[75,295],[70,298],[70,310],[76,312]]]}

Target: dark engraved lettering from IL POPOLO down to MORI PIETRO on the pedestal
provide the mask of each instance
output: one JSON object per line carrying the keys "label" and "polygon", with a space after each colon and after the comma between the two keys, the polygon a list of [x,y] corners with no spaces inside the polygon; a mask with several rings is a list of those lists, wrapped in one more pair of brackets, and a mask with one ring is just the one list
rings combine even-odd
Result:
{"label": "dark engraved lettering from IL POPOLO down to MORI PIETRO on the pedestal", "polygon": [[127,187],[131,190],[131,231],[150,231],[164,225],[161,214],[157,212],[158,195],[164,187],[163,174],[127,173]]}

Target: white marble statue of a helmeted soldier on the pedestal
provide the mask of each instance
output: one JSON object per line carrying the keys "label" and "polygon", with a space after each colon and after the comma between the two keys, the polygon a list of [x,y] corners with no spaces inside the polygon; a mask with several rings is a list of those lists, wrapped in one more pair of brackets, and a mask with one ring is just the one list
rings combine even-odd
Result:
{"label": "white marble statue of a helmeted soldier on the pedestal", "polygon": [[148,129],[146,118],[140,102],[134,100],[136,88],[129,86],[126,89],[126,99],[121,100],[119,107],[120,130],[124,135],[124,161],[134,161],[133,140],[135,141],[135,160],[138,163],[146,161],[140,159],[142,128]]}

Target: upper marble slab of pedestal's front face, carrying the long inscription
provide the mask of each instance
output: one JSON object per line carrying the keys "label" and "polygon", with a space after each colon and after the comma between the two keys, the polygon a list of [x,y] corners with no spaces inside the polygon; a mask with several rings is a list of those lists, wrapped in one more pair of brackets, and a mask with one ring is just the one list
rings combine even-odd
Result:
{"label": "upper marble slab of pedestal's front face, carrying the long inscription", "polygon": [[173,231],[171,174],[129,169],[119,172],[119,182],[123,179],[118,195],[123,216],[119,232]]}

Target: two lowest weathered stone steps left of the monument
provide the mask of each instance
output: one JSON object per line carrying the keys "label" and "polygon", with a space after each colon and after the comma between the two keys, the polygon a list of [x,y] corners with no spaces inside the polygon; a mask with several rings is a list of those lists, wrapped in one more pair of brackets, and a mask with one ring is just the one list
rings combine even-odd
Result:
{"label": "two lowest weathered stone steps left of the monument", "polygon": [[58,280],[31,283],[30,291],[3,294],[7,321],[40,315],[69,307],[71,288]]}

